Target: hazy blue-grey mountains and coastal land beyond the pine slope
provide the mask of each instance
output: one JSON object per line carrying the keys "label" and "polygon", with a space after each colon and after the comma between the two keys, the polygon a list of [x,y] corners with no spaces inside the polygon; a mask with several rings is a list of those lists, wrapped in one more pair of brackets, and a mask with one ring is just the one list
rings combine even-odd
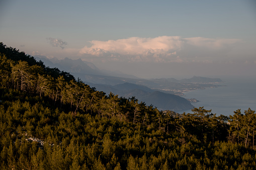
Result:
{"label": "hazy blue-grey mountains and coastal land beyond the pine slope", "polygon": [[48,59],[45,56],[34,56],[36,60],[41,60],[50,68],[58,68],[69,72],[74,77],[95,87],[106,94],[110,92],[118,94],[119,97],[136,97],[139,101],[147,105],[152,104],[159,110],[180,110],[192,109],[193,105],[185,98],[181,97],[183,92],[207,87],[218,87],[213,83],[221,83],[218,78],[206,78],[194,76],[190,79],[177,80],[174,78],[141,79],[133,75],[120,72],[110,72],[98,69],[93,63],[72,60],[65,58]]}

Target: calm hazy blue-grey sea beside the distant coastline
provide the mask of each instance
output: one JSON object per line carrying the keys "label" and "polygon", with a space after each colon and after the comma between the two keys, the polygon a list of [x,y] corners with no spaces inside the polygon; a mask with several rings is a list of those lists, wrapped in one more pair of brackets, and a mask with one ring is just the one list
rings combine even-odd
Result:
{"label": "calm hazy blue-grey sea beside the distant coastline", "polygon": [[[224,77],[223,83],[218,83],[217,88],[206,88],[193,90],[184,93],[184,98],[195,98],[199,102],[191,103],[194,107],[204,107],[206,110],[212,109],[211,113],[229,116],[234,111],[241,109],[256,110],[256,78],[253,77]],[[190,110],[182,110],[179,113],[193,113]],[[256,112],[255,112],[256,113]]]}

